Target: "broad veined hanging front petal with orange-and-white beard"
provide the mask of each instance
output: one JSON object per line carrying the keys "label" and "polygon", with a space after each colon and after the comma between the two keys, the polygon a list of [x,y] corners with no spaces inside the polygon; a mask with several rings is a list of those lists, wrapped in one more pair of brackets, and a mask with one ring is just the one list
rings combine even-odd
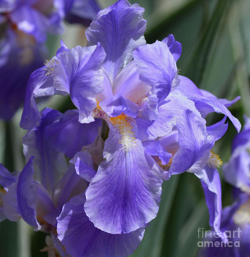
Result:
{"label": "broad veined hanging front petal with orange-and-white beard", "polygon": [[86,190],[84,210],[97,228],[129,233],[156,217],[162,178],[160,167],[138,139],[134,119],[120,115],[111,120],[106,159]]}

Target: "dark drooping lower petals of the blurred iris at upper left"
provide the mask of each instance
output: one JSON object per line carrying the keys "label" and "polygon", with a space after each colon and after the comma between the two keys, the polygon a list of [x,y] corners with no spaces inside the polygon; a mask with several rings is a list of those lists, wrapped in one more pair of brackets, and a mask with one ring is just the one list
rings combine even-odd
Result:
{"label": "dark drooping lower petals of the blurred iris at upper left", "polygon": [[48,53],[43,43],[12,29],[5,32],[0,49],[0,118],[8,120],[24,101],[30,74],[41,67]]}

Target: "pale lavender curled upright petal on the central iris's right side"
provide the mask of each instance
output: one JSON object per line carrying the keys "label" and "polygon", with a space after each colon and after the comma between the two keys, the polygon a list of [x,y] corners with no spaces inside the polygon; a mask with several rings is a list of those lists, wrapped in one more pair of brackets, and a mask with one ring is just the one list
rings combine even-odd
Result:
{"label": "pale lavender curled upright petal on the central iris's right side", "polygon": [[159,41],[138,47],[133,56],[139,79],[152,87],[148,107],[154,111],[171,91],[177,73],[176,62],[168,46]]}

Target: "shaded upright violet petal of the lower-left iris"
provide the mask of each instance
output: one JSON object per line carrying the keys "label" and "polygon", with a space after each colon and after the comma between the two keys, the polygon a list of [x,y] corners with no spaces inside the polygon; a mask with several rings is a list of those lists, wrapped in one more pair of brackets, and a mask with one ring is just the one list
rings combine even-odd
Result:
{"label": "shaded upright violet petal of the lower-left iris", "polygon": [[23,137],[23,153],[26,160],[34,155],[33,165],[35,180],[53,194],[55,183],[66,172],[66,159],[62,152],[57,152],[46,136],[46,128],[54,121],[61,118],[59,111],[45,108],[41,111],[41,119],[36,127],[27,132]]}

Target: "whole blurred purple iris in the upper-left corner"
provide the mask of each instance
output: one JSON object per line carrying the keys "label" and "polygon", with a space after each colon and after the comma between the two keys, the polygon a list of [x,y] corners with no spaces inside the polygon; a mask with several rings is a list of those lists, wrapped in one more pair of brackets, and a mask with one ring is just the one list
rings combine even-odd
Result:
{"label": "whole blurred purple iris in the upper-left corner", "polygon": [[23,103],[30,74],[48,58],[47,34],[63,32],[66,14],[89,24],[98,11],[89,0],[0,1],[0,118],[10,119]]}

